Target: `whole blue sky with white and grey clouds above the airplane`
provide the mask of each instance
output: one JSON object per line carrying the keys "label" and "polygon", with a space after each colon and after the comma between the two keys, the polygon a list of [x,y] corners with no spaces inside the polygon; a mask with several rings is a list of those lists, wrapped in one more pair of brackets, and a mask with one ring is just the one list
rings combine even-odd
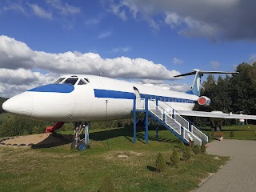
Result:
{"label": "whole blue sky with white and grey clouds above the airplane", "polygon": [[0,0],[0,97],[62,74],[186,91],[193,69],[256,61],[254,0]]}

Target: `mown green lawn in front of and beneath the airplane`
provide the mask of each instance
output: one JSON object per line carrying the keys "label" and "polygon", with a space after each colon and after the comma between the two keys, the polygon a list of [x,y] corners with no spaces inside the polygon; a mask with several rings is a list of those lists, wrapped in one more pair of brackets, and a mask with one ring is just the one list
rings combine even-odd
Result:
{"label": "mown green lawn in front of and beneath the airplane", "polygon": [[[98,191],[102,179],[110,175],[115,191],[190,191],[202,178],[218,171],[228,158],[194,155],[177,167],[155,171],[155,159],[162,152],[170,162],[179,141],[167,130],[159,141],[150,130],[145,144],[142,131],[132,143],[126,128],[90,130],[90,150],[70,150],[70,144],[48,149],[0,147],[1,191]],[[70,134],[66,132],[66,134]],[[179,154],[182,152],[179,150]],[[121,157],[118,157],[121,155]]]}

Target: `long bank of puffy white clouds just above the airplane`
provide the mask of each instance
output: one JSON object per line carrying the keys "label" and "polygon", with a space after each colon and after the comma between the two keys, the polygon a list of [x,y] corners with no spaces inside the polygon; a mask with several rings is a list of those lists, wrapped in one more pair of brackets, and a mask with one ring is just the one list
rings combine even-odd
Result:
{"label": "long bank of puffy white clouds just above the airplane", "polygon": [[[99,54],[83,54],[78,51],[51,54],[31,50],[26,43],[4,35],[0,36],[0,69],[0,90],[4,90],[0,95],[8,97],[52,82],[59,74],[104,72],[104,76],[110,78],[156,80],[172,80],[174,75],[179,74],[176,70],[167,70],[165,66],[144,58],[102,58]],[[41,69],[50,73],[44,75],[30,69]]]}

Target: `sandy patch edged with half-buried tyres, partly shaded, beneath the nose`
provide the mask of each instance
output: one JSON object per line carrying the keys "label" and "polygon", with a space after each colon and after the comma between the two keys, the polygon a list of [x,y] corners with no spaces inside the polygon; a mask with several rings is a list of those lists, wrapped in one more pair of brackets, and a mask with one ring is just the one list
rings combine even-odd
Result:
{"label": "sandy patch edged with half-buried tyres, partly shaded, beneath the nose", "polygon": [[30,134],[2,139],[1,146],[49,148],[72,142],[72,135],[65,134]]}

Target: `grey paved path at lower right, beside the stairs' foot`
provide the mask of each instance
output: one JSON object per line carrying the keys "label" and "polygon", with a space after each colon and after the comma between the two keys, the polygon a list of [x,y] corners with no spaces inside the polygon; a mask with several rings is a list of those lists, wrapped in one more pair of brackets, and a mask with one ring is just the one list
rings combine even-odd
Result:
{"label": "grey paved path at lower right, beside the stairs' foot", "polygon": [[214,141],[210,143],[207,153],[230,156],[232,159],[196,192],[256,192],[256,141]]}

